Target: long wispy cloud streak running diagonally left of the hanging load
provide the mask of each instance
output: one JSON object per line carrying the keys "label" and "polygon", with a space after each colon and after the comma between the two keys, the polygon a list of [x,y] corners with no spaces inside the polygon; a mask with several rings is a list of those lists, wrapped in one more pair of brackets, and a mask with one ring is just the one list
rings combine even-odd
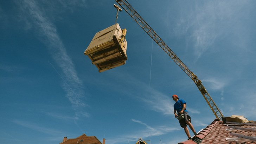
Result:
{"label": "long wispy cloud streak running diagonally left of the hanging load", "polygon": [[34,30],[38,31],[38,37],[49,48],[52,58],[61,68],[64,74],[63,80],[65,81],[62,87],[67,93],[66,97],[72,103],[77,118],[80,116],[88,117],[89,114],[84,112],[84,107],[87,105],[83,102],[84,90],[82,81],[77,76],[75,65],[67,54],[55,25],[44,13],[43,7],[38,6],[36,1],[24,0],[20,5],[23,13],[30,14],[30,17],[27,19],[32,21]]}

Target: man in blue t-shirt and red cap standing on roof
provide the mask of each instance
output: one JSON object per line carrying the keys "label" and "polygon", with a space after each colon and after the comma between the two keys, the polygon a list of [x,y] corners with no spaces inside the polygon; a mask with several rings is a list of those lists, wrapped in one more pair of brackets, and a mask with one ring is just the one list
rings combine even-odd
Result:
{"label": "man in blue t-shirt and red cap standing on roof", "polygon": [[[187,125],[190,127],[190,129],[193,131],[194,135],[196,136],[197,133],[194,130],[193,125],[191,124],[191,119],[188,118],[188,112],[186,110],[186,102],[183,99],[179,99],[177,95],[173,95],[172,99],[176,102],[173,105],[173,109],[174,109],[174,115],[175,117],[178,117],[178,115],[180,114],[184,114],[184,119],[179,120],[180,126],[184,128],[185,133],[188,137],[188,140],[191,140],[192,138],[190,137],[190,133],[188,131]],[[178,114],[176,113],[178,111]]]}

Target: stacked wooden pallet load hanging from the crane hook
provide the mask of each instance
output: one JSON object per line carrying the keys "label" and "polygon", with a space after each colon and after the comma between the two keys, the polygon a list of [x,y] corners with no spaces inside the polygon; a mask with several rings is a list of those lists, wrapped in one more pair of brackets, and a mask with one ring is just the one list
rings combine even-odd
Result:
{"label": "stacked wooden pallet load hanging from the crane hook", "polygon": [[84,54],[88,55],[99,72],[125,64],[127,60],[125,35],[126,29],[121,30],[118,23],[95,34]]}

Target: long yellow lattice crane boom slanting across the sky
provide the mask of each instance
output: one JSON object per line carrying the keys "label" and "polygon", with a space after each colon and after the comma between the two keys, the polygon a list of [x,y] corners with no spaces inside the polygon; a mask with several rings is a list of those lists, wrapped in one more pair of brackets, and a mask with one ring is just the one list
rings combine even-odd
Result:
{"label": "long yellow lattice crane boom slanting across the sky", "polygon": [[191,72],[188,67],[177,57],[176,54],[165,44],[165,42],[156,34],[156,32],[147,24],[145,20],[135,11],[135,9],[126,0],[115,0],[136,22],[141,26],[141,28],[158,44],[168,55],[173,59],[173,61],[194,81],[197,85],[199,91],[203,95],[207,104],[210,106],[212,112],[217,119],[223,116],[222,112],[219,110],[210,94],[206,91],[205,87],[197,76]]}

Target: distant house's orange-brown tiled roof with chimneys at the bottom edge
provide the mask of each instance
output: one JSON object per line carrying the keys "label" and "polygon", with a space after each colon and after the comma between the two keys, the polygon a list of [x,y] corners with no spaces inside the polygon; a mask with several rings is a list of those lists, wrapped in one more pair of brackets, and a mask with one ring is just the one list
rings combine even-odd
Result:
{"label": "distant house's orange-brown tiled roof with chimneys at the bottom edge", "polygon": [[95,136],[87,136],[85,134],[77,137],[70,138],[64,137],[63,142],[59,144],[105,144],[105,139],[103,138],[102,143]]}

